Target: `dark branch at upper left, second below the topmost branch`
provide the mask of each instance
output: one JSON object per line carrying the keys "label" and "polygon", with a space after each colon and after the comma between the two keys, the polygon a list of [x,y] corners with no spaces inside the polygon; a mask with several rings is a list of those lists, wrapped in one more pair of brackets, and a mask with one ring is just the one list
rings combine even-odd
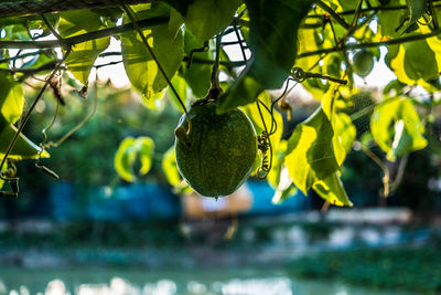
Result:
{"label": "dark branch at upper left, second below the topmost branch", "polygon": [[[169,17],[157,17],[151,19],[146,19],[138,21],[140,28],[153,27],[158,24],[168,23]],[[132,31],[133,24],[127,23],[118,27],[107,28],[99,31],[88,32],[80,35],[75,35],[71,38],[63,39],[68,45],[75,45],[82,42],[109,36],[118,33],[123,33],[127,31]],[[49,41],[0,41],[0,49],[51,49],[51,48],[63,48],[64,44],[58,40]]]}

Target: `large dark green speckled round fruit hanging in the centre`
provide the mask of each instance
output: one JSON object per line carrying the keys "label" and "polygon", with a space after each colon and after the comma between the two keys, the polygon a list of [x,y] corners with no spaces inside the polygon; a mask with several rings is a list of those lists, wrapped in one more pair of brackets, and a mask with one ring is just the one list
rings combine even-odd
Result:
{"label": "large dark green speckled round fruit hanging in the centre", "polygon": [[[216,104],[189,110],[190,146],[175,138],[178,170],[196,192],[205,197],[232,194],[247,179],[257,155],[256,130],[239,108],[216,115]],[[179,127],[187,127],[185,114]]]}

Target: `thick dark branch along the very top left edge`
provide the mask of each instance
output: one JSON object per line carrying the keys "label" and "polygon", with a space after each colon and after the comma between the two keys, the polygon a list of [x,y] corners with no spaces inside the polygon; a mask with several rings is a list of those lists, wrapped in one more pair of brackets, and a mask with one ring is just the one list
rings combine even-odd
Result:
{"label": "thick dark branch along the very top left edge", "polygon": [[[123,2],[127,6],[131,6],[159,1],[160,0],[125,0]],[[40,14],[75,9],[110,8],[119,6],[121,6],[120,0],[10,0],[0,1],[0,18],[23,17],[29,14]]]}

